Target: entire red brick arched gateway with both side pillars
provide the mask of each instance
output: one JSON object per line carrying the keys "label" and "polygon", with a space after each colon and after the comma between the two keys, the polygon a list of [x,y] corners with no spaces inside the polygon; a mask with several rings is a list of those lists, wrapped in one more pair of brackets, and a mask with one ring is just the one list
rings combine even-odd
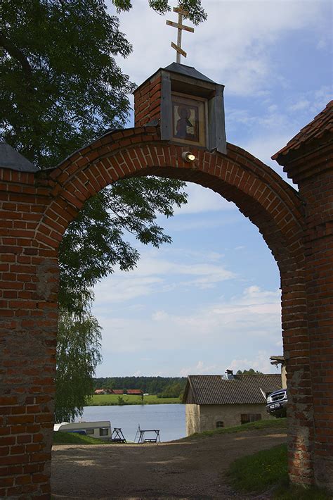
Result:
{"label": "entire red brick arched gateway with both side pillars", "polygon": [[[153,93],[160,92],[158,82],[148,83]],[[138,89],[138,106],[145,88]],[[148,115],[154,118],[151,95]],[[214,99],[218,102],[218,92]],[[332,103],[277,156],[299,192],[247,151],[214,136],[214,102],[208,107],[209,141],[215,137],[216,144],[191,143],[194,161],[183,155],[189,149],[185,139],[167,137],[161,104],[159,126],[140,126],[145,116],[136,111],[135,128],[107,133],[57,168],[34,172],[18,157],[1,164],[1,497],[50,498],[57,248],[63,232],[90,196],[140,175],[210,187],[259,228],[281,276],[289,474],[296,483],[333,489]],[[185,134],[192,135],[188,126]],[[174,133],[179,130],[181,125]]]}

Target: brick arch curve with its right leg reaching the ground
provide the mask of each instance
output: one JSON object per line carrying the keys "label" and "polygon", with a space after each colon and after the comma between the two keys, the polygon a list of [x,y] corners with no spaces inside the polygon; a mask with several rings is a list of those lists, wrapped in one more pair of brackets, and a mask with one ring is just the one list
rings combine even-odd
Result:
{"label": "brick arch curve with its right leg reaching the ground", "polygon": [[233,201],[258,227],[280,270],[282,337],[292,387],[289,475],[295,482],[312,482],[303,201],[277,173],[240,147],[228,144],[226,155],[191,149],[194,164],[181,158],[186,149],[161,141],[155,127],[136,127],[107,134],[75,152],[49,175],[51,202],[37,227],[36,240],[55,249],[84,202],[126,177],[159,175],[195,182]]}

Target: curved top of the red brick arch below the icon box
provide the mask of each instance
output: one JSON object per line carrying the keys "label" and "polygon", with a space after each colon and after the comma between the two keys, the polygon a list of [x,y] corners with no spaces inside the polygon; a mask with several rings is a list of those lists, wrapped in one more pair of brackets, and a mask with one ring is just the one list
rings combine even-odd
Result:
{"label": "curved top of the red brick arch below the icon box", "polygon": [[110,133],[77,151],[49,175],[51,203],[37,227],[37,241],[55,248],[84,201],[112,182],[159,175],[195,182],[233,201],[259,228],[279,267],[291,256],[299,263],[303,206],[297,192],[233,144],[227,155],[191,149],[194,165],[181,158],[186,149],[162,142],[155,127],[145,127]]}

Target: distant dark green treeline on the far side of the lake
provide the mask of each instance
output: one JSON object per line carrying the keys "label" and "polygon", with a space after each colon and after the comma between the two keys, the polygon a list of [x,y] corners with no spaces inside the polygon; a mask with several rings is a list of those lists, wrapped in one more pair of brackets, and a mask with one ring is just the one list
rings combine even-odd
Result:
{"label": "distant dark green treeline on the far side of the lake", "polygon": [[144,393],[175,398],[183,394],[186,377],[99,377],[94,389],[141,389]]}

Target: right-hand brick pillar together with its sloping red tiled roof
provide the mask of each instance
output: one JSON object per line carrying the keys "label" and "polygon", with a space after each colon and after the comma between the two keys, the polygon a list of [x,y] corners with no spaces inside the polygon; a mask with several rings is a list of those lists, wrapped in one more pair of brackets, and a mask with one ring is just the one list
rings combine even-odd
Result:
{"label": "right-hand brick pillar together with its sloping red tiled roof", "polygon": [[299,194],[305,203],[313,471],[317,485],[333,490],[332,114],[333,101],[273,158],[284,165],[285,172],[299,185]]}

